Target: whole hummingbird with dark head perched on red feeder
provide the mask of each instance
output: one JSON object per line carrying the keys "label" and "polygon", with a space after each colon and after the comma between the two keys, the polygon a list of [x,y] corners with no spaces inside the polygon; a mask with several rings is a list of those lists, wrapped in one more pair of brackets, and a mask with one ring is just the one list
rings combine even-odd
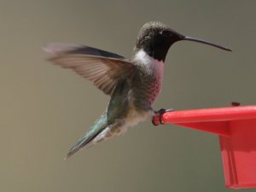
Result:
{"label": "whole hummingbird with dark head perched on red feeder", "polygon": [[73,69],[110,96],[108,108],[73,145],[67,158],[83,148],[124,133],[128,127],[165,109],[152,108],[162,87],[166,54],[177,41],[194,41],[231,51],[218,44],[190,38],[159,21],[145,23],[137,35],[131,59],[102,49],[76,44],[48,44],[49,61]]}

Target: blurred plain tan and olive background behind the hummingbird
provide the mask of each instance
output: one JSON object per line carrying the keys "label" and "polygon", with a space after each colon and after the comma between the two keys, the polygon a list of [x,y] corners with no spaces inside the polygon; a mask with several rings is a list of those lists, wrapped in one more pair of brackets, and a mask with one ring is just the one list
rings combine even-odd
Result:
{"label": "blurred plain tan and olive background behind the hummingbird", "polygon": [[130,57],[143,23],[160,20],[233,52],[174,44],[154,108],[256,104],[255,6],[253,0],[2,0],[0,191],[230,191],[218,137],[174,125],[145,122],[63,160],[109,98],[77,74],[52,66],[41,47],[86,44]]}

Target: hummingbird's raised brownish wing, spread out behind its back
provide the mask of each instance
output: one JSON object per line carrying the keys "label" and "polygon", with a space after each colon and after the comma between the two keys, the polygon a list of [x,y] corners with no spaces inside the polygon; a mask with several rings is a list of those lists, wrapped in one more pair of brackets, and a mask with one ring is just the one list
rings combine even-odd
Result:
{"label": "hummingbird's raised brownish wing, spread out behind its back", "polygon": [[119,79],[127,79],[135,70],[121,55],[83,45],[49,44],[44,50],[52,55],[49,61],[72,68],[110,96]]}

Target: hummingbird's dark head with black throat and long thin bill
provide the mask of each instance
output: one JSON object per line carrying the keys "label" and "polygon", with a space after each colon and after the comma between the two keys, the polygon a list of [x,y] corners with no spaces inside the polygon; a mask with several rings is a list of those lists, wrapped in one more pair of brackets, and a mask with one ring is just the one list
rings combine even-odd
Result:
{"label": "hummingbird's dark head with black throat and long thin bill", "polygon": [[219,49],[230,50],[198,38],[184,36],[159,21],[150,21],[143,25],[137,35],[135,50],[143,49],[154,59],[165,61],[168,49],[172,44],[180,40],[195,41],[202,44],[209,44]]}

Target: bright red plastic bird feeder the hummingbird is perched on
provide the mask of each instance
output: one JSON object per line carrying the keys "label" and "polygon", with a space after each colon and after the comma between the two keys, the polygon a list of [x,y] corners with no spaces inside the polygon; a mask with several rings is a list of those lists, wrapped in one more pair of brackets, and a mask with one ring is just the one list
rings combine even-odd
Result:
{"label": "bright red plastic bird feeder the hummingbird is perched on", "polygon": [[[159,119],[155,115],[154,124]],[[163,124],[217,134],[226,186],[256,188],[256,105],[166,112],[161,119]]]}

